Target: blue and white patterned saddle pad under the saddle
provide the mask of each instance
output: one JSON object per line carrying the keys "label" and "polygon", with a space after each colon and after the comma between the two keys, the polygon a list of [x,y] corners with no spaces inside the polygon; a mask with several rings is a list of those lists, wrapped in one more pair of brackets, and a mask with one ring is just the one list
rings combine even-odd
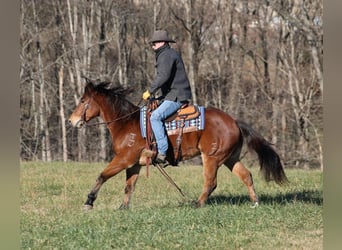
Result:
{"label": "blue and white patterned saddle pad under the saddle", "polygon": [[[198,107],[200,111],[200,116],[194,119],[190,119],[187,121],[184,121],[184,128],[183,133],[193,132],[197,130],[203,130],[204,129],[204,110],[205,108],[203,106]],[[144,106],[140,109],[140,131],[142,137],[146,138],[146,110],[147,106]],[[179,129],[181,128],[181,121],[170,121],[170,122],[164,122],[165,129],[167,131],[168,135],[174,135],[179,133]]]}

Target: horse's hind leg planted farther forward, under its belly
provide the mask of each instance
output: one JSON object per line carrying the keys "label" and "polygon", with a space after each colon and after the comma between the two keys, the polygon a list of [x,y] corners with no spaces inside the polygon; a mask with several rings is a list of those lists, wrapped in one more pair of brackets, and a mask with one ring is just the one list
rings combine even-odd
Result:
{"label": "horse's hind leg planted farther forward, under its belly", "polygon": [[202,154],[202,160],[204,185],[202,194],[197,200],[196,207],[204,206],[205,202],[208,200],[208,197],[216,189],[217,186],[218,164],[216,158]]}

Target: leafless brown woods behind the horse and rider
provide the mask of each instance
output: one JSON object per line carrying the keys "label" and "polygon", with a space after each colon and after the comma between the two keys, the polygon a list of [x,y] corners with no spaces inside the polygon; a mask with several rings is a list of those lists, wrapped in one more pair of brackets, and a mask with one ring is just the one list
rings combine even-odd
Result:
{"label": "leafless brown woods behind the horse and rider", "polygon": [[194,102],[252,124],[284,164],[323,168],[323,1],[21,0],[20,158],[107,161],[105,126],[66,120],[84,79],[134,87],[154,76],[153,30],[186,64]]}

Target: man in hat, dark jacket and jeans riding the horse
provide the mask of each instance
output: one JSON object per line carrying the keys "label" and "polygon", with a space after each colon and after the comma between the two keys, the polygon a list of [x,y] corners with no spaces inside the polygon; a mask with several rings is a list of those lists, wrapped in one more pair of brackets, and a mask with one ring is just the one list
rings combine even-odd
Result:
{"label": "man in hat, dark jacket and jeans riding the horse", "polygon": [[158,149],[154,161],[166,166],[168,138],[164,120],[191,100],[191,88],[181,55],[169,45],[175,41],[169,38],[168,33],[156,30],[149,43],[156,55],[156,76],[150,88],[143,93],[143,99],[149,99],[151,94],[161,89],[162,103],[152,112],[150,121]]}

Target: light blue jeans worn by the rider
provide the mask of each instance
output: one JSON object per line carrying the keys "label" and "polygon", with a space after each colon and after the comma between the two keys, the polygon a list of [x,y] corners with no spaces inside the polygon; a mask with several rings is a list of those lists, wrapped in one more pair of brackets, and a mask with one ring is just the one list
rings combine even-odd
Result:
{"label": "light blue jeans worn by the rider", "polygon": [[173,102],[164,100],[159,107],[152,112],[151,115],[151,126],[156,138],[158,153],[166,155],[169,143],[164,127],[164,120],[175,113],[182,104],[180,102]]}

